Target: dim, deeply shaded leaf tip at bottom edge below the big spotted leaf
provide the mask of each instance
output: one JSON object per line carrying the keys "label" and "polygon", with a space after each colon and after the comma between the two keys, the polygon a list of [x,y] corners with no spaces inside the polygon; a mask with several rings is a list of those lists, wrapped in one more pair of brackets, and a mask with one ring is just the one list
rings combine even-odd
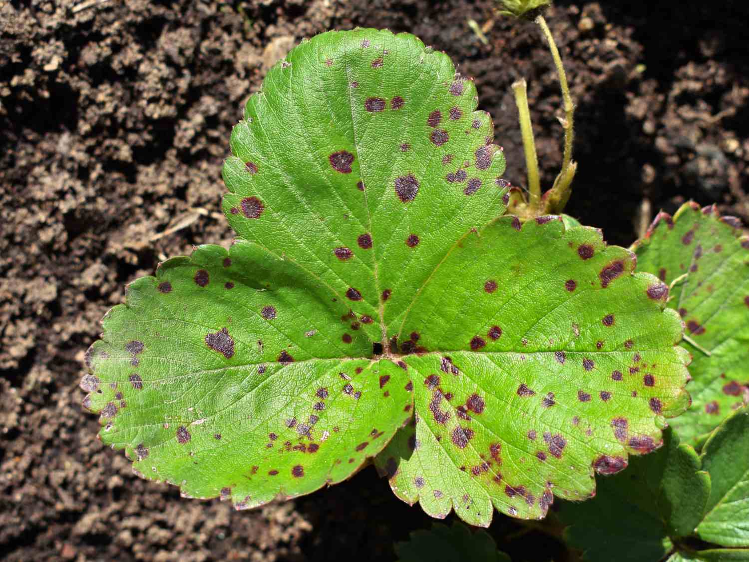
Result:
{"label": "dim, deeply shaded leaf tip at bottom edge below the big spotted leaf", "polygon": [[510,562],[486,531],[472,532],[458,521],[452,527],[434,523],[429,531],[413,531],[407,543],[395,543],[395,553],[399,562]]}

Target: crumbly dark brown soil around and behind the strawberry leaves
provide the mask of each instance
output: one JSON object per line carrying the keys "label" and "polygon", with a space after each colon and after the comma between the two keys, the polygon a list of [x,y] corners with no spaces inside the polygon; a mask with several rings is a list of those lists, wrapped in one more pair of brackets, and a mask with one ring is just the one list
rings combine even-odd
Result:
{"label": "crumbly dark brown soil around and behind the strawberry leaves", "polygon": [[[712,3],[715,4],[715,3]],[[718,202],[749,219],[749,43],[742,0],[558,1],[548,14],[577,100],[568,212],[634,240],[638,209]],[[654,7],[656,6],[656,7]],[[412,31],[476,77],[513,184],[524,159],[510,84],[530,85],[543,181],[560,163],[560,94],[539,31],[491,0],[0,0],[0,552],[8,560],[392,560],[428,526],[372,468],[235,513],[146,483],[94,438],[85,349],[124,285],[192,244],[231,238],[222,159],[240,106],[302,37]],[[467,18],[487,28],[482,45]],[[651,214],[652,214],[651,211]],[[157,234],[181,226],[172,234]],[[516,562],[542,534],[502,538]],[[543,554],[542,554],[543,553]],[[559,558],[557,558],[559,559]]]}

